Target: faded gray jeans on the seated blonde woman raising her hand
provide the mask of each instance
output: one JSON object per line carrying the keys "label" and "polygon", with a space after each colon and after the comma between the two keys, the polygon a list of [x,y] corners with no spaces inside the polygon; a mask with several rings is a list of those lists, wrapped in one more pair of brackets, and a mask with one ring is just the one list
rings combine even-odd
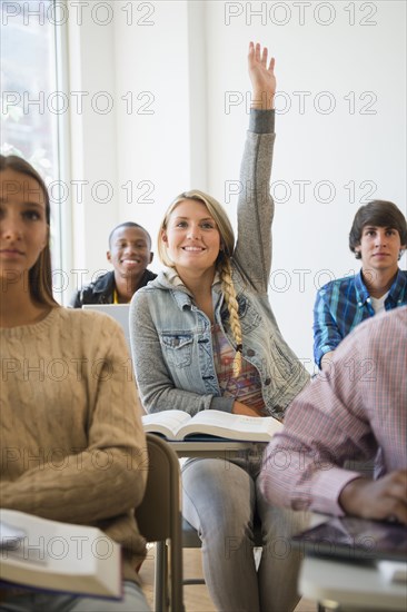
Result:
{"label": "faded gray jeans on the seated blonde woman raising her hand", "polygon": [[[196,458],[182,470],[182,514],[202,540],[205,580],[222,612],[291,612],[300,596],[300,554],[290,536],[310,516],[270,506],[257,484],[260,458]],[[255,516],[261,523],[262,553],[256,571]]]}

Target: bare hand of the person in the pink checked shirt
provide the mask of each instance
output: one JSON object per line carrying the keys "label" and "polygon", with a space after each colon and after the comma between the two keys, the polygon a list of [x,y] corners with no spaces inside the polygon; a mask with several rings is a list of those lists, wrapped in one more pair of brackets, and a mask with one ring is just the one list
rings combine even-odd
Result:
{"label": "bare hand of the person in the pink checked shirt", "polygon": [[377,481],[350,481],[340,492],[339,503],[354,516],[407,524],[407,470],[396,470]]}

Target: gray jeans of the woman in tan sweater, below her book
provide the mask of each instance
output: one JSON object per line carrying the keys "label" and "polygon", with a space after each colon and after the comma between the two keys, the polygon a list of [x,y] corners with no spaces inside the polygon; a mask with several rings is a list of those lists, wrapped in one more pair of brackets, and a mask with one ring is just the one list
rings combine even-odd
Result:
{"label": "gray jeans of the woman in tan sweater, below her book", "polygon": [[49,593],[27,593],[1,601],[1,612],[150,612],[141,586],[123,582],[123,599],[106,600]]}

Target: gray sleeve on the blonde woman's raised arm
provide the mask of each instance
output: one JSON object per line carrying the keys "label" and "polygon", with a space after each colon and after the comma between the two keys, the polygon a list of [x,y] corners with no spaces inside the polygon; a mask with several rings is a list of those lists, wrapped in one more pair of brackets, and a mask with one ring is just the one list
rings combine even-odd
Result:
{"label": "gray sleeve on the blonde woman's raised arm", "polygon": [[250,130],[240,167],[238,240],[234,255],[252,287],[266,295],[271,272],[275,211],[270,196],[274,124],[274,110],[252,110],[250,113]]}

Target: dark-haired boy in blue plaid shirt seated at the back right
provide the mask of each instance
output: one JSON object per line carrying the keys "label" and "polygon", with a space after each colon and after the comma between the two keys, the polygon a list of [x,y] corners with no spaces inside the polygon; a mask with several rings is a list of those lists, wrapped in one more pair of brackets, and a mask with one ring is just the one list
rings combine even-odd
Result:
{"label": "dark-haired boy in blue plaid shirt seated at the back right", "polygon": [[406,245],[406,219],[395,204],[374,200],[359,208],[349,248],[361,259],[361,269],[317,293],[314,357],[318,367],[330,365],[332,352],[361,320],[407,304],[407,272],[398,267]]}

